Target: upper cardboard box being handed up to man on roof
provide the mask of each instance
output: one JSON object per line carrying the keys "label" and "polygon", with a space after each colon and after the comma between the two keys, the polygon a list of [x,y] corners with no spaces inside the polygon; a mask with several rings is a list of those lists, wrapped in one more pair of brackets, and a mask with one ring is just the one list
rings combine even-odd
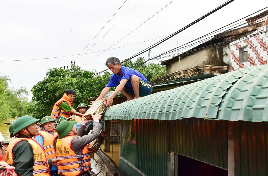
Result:
{"label": "upper cardboard box being handed up to man on roof", "polygon": [[84,117],[88,120],[92,120],[91,113],[96,114],[97,112],[105,112],[107,100],[98,100],[95,101],[85,112]]}

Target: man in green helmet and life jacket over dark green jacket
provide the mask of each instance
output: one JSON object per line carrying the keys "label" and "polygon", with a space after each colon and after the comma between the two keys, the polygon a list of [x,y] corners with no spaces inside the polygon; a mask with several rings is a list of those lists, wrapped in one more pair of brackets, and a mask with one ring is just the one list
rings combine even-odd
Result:
{"label": "man in green helmet and life jacket over dark green jacket", "polygon": [[16,138],[10,140],[7,147],[7,163],[15,166],[18,176],[49,176],[49,168],[57,165],[60,159],[47,159],[46,153],[38,142],[32,139],[38,134],[38,126],[31,116],[22,116],[14,122],[13,135]]}

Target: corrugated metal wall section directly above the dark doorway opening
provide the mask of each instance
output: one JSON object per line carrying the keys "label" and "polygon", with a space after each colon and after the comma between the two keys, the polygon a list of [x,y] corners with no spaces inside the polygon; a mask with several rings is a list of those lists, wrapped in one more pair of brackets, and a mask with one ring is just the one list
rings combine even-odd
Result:
{"label": "corrugated metal wall section directly above the dark doorway opening", "polygon": [[171,123],[172,152],[228,169],[227,121],[191,118]]}

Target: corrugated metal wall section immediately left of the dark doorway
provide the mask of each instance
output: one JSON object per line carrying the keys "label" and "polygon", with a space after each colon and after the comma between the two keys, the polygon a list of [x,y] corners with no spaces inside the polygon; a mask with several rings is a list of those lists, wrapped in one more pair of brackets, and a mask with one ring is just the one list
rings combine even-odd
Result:
{"label": "corrugated metal wall section immediately left of the dark doorway", "polygon": [[136,167],[148,176],[167,175],[169,123],[137,120]]}

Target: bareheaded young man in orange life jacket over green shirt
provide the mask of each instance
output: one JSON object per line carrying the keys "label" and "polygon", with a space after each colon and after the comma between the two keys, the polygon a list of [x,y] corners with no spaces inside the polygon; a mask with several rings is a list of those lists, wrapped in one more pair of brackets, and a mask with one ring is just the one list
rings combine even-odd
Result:
{"label": "bareheaded young man in orange life jacket over green shirt", "polygon": [[74,110],[73,100],[75,96],[76,92],[73,89],[67,89],[63,97],[54,104],[50,117],[54,118],[55,120],[60,116],[69,118],[71,114],[82,117],[84,114]]}

